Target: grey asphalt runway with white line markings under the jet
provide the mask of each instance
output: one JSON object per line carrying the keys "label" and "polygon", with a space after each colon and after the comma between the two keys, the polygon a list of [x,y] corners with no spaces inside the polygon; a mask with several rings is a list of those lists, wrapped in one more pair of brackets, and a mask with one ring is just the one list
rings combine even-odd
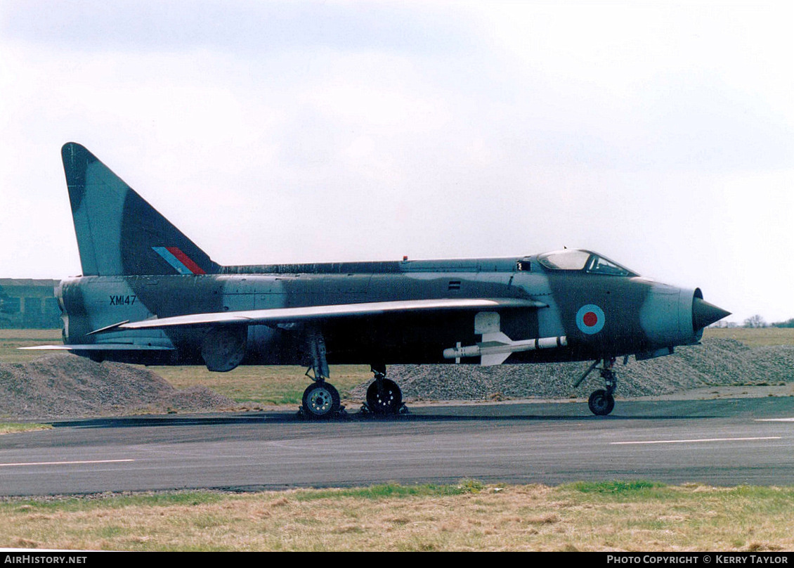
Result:
{"label": "grey asphalt runway with white line markings under the jet", "polygon": [[82,419],[0,436],[0,495],[649,480],[794,485],[794,397],[463,404],[307,423],[264,412]]}

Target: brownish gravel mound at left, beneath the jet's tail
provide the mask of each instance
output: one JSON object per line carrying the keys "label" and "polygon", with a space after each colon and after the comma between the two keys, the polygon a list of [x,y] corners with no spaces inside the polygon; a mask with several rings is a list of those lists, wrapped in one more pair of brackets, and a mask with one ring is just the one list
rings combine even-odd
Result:
{"label": "brownish gravel mound at left, beneath the jet's tail", "polygon": [[67,354],[29,363],[0,363],[3,419],[201,412],[233,404],[209,388],[178,391],[148,369],[121,363],[97,363]]}

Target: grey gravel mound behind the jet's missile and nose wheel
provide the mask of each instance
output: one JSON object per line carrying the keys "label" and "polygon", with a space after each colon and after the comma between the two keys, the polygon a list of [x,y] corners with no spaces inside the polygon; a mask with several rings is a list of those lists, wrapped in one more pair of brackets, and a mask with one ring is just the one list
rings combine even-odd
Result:
{"label": "grey gravel mound behind the jet's missile and nose wheel", "polygon": [[[388,376],[406,400],[507,400],[586,397],[602,388],[593,371],[579,388],[573,384],[590,362],[535,365],[392,365]],[[700,346],[676,347],[667,357],[619,360],[616,395],[653,396],[692,388],[794,382],[794,346],[750,348],[734,339],[707,339]],[[364,398],[367,384],[353,389]]]}

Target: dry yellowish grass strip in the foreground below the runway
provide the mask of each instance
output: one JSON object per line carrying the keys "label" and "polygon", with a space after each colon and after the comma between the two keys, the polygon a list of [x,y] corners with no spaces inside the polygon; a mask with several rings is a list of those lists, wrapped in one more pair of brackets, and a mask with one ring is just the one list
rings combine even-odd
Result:
{"label": "dry yellowish grass strip in the foreground below the runway", "polygon": [[124,551],[792,551],[794,489],[378,485],[6,500],[0,547]]}

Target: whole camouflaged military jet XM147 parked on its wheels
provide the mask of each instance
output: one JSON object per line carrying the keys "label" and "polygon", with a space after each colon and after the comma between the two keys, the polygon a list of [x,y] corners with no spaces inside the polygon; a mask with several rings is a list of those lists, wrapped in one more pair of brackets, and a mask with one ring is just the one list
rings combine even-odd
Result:
{"label": "whole camouflaged military jet XM147 parked on its wheels", "polygon": [[62,349],[146,365],[306,365],[303,413],[340,411],[330,364],[368,364],[365,409],[400,412],[387,364],[594,361],[699,342],[729,312],[579,249],[511,258],[222,266],[82,145],[62,149],[83,276],[56,288]]}

